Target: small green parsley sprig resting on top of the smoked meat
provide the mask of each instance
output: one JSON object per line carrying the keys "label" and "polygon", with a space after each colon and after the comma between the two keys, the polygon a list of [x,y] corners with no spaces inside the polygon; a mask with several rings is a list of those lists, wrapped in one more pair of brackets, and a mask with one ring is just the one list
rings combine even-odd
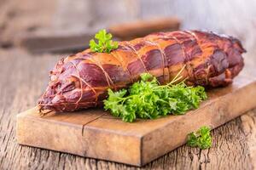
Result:
{"label": "small green parsley sprig resting on top of the smoked meat", "polygon": [[118,42],[113,42],[111,40],[112,35],[107,33],[106,30],[98,31],[95,38],[97,39],[97,42],[92,39],[89,43],[92,52],[110,53],[111,50],[118,48]]}

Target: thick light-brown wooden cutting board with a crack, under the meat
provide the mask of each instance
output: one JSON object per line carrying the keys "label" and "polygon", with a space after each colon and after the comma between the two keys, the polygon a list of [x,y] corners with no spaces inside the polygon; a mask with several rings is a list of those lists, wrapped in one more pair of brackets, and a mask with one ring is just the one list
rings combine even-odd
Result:
{"label": "thick light-brown wooden cutting board with a crack, under the meat", "polygon": [[183,116],[122,122],[101,109],[38,116],[37,109],[17,116],[19,144],[79,156],[143,166],[184,144],[201,126],[218,127],[256,107],[256,81],[239,76],[226,88]]}

